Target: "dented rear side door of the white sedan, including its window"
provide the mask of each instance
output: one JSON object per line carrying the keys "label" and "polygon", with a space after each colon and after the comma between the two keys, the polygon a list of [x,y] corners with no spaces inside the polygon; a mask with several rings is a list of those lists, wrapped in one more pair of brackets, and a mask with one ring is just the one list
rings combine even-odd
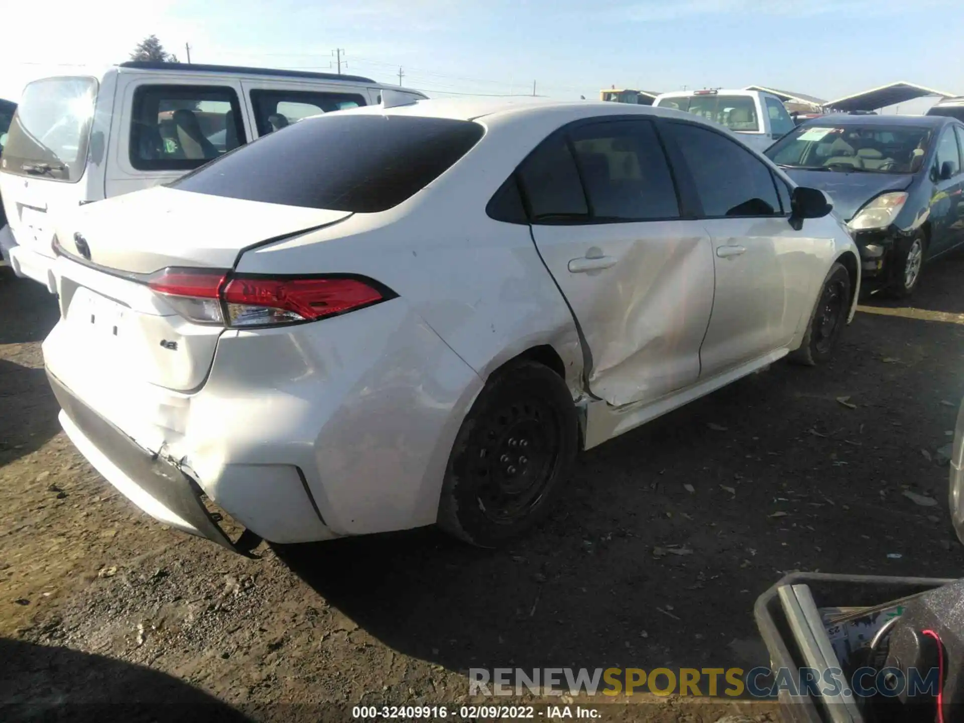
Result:
{"label": "dented rear side door of the white sedan, including its window", "polygon": [[693,384],[712,308],[710,238],[683,220],[652,121],[556,133],[520,180],[536,246],[590,355],[592,393],[622,406]]}

